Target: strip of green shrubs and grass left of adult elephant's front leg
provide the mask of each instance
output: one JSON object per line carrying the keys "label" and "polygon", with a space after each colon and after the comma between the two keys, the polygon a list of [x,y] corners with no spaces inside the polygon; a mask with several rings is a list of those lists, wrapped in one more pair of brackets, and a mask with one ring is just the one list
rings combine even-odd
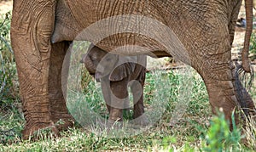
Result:
{"label": "strip of green shrubs and grass left of adult elephant's front leg", "polygon": [[10,46],[11,14],[0,14],[0,143],[19,140],[24,119],[20,115],[15,59]]}

